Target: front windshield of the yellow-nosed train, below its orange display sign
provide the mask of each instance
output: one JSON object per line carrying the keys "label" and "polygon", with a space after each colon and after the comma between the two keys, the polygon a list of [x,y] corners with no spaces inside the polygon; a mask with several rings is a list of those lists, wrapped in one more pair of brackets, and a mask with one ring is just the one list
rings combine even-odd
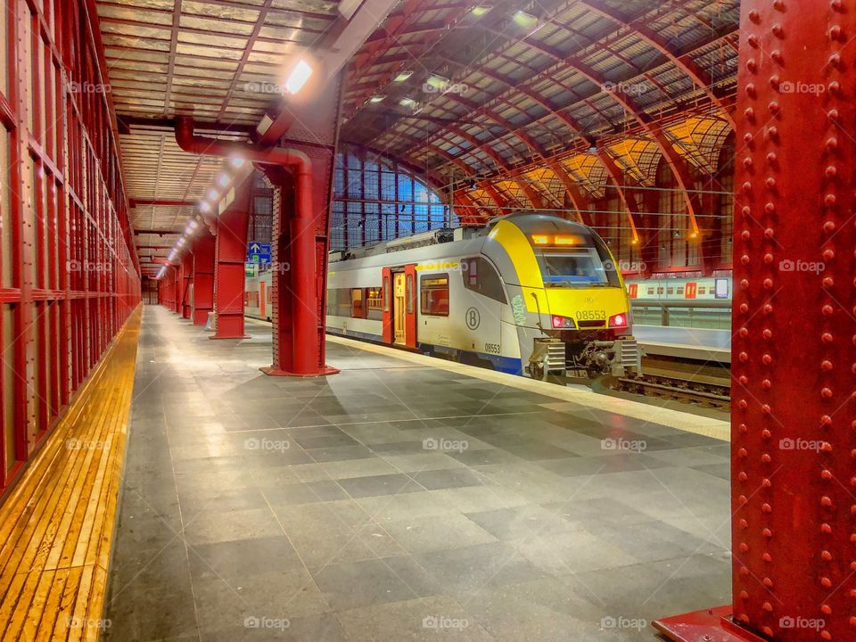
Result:
{"label": "front windshield of the yellow-nosed train, below its orange display sign", "polygon": [[557,287],[619,287],[608,254],[594,247],[544,248],[536,251],[545,285]]}

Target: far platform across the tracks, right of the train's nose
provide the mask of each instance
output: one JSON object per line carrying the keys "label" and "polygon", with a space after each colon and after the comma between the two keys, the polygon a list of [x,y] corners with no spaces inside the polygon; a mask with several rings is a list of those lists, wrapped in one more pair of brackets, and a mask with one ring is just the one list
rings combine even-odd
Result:
{"label": "far platform across the tracks, right of the train's nose", "polygon": [[648,355],[731,363],[730,330],[634,325],[633,334]]}

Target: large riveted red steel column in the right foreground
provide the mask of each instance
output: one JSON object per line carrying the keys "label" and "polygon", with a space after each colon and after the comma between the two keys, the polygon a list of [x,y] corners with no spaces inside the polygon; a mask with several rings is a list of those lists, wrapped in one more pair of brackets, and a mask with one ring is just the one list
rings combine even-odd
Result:
{"label": "large riveted red steel column in the right foreground", "polygon": [[693,642],[850,641],[856,0],[744,0],[741,14],[733,604],[656,626]]}

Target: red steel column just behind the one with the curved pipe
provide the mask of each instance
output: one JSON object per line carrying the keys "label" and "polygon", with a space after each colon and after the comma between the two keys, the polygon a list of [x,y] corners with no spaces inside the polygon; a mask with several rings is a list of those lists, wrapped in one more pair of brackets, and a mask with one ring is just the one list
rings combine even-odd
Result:
{"label": "red steel column just behind the one with the curved pipe", "polygon": [[217,332],[210,339],[247,338],[243,333],[243,296],[251,184],[247,180],[237,188],[235,201],[217,221],[214,273]]}

